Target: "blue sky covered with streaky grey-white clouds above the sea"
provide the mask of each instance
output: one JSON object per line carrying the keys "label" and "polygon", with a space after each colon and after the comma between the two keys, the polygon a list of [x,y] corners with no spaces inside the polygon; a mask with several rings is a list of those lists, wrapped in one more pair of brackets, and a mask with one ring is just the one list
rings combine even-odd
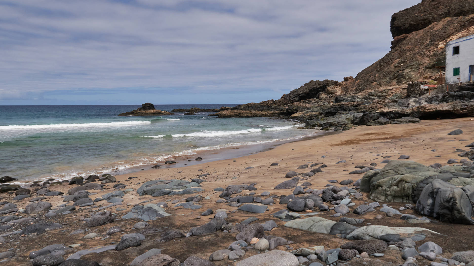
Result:
{"label": "blue sky covered with streaky grey-white clouds above the sea", "polygon": [[0,0],[0,105],[248,103],[342,80],[420,0]]}

